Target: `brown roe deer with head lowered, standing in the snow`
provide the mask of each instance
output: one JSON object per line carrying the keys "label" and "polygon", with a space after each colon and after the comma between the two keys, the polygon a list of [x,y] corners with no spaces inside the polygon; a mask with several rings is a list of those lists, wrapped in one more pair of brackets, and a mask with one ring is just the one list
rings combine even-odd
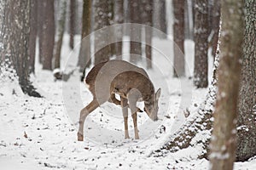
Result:
{"label": "brown roe deer with head lowered, standing in the snow", "polygon": [[[137,130],[137,101],[144,101],[144,111],[153,120],[157,121],[158,100],[160,89],[154,94],[154,85],[149,80],[148,74],[142,68],[123,60],[109,60],[95,65],[85,83],[93,95],[93,100],[80,112],[78,140],[84,140],[84,120],[86,116],[106,101],[121,105],[125,121],[125,139],[128,133],[128,107],[134,124],[135,139],[139,139]],[[119,94],[120,101],[115,98]]]}

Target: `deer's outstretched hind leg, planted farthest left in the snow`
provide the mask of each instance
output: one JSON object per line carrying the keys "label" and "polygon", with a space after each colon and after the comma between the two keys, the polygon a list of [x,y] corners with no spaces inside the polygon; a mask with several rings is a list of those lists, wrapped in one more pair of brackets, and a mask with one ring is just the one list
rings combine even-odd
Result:
{"label": "deer's outstretched hind leg, planted farthest left in the snow", "polygon": [[84,140],[84,120],[86,116],[90,114],[91,111],[94,111],[99,106],[96,99],[93,99],[89,105],[86,105],[84,109],[80,111],[80,119],[79,119],[79,132],[78,132],[78,140]]}

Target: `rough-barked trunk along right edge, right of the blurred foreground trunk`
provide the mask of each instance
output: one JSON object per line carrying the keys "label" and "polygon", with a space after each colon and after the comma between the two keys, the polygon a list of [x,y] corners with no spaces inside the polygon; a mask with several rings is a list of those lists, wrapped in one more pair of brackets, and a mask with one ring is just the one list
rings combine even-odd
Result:
{"label": "rough-barked trunk along right edge, right of the blurred foreground trunk", "polygon": [[[256,3],[245,1],[245,37],[237,122],[237,161],[256,155]],[[236,27],[237,28],[240,28]],[[234,53],[232,51],[232,53]]]}

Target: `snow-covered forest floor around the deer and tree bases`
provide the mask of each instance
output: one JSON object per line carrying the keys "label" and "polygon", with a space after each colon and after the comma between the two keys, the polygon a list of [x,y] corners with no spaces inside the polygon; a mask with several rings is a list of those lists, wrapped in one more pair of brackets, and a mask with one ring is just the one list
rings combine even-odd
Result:
{"label": "snow-covered forest floor around the deer and tree bases", "polygon": [[[124,139],[120,107],[105,104],[90,114],[84,126],[84,142],[78,142],[76,122],[91,94],[78,82],[75,61],[79,47],[71,52],[67,38],[66,35],[61,66],[67,72],[74,71],[69,81],[55,82],[52,72],[36,65],[32,81],[44,98],[28,97],[17,82],[1,77],[0,169],[208,169],[207,160],[197,159],[200,148],[189,147],[165,157],[149,156],[189,118],[184,117],[183,110],[195,113],[206,97],[207,89],[195,89],[188,78],[193,71],[193,42],[185,43],[188,77],[175,79],[172,63],[166,59],[172,61],[172,41],[154,39],[154,69],[148,74],[155,88],[162,88],[160,121],[151,122],[141,113],[140,139],[134,139],[132,126],[131,139]],[[76,39],[79,41],[79,37]],[[125,47],[124,54],[128,54],[127,43]],[[209,61],[211,67],[212,59]],[[145,66],[143,61],[141,66]],[[256,159],[236,162],[235,169],[256,169]]]}

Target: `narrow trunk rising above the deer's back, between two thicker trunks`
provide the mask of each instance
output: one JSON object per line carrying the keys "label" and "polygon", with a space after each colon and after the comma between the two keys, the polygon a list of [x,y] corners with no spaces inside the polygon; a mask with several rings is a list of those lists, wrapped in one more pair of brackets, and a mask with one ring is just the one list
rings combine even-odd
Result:
{"label": "narrow trunk rising above the deer's back, between two thicker trunks", "polygon": [[[114,2],[114,23],[124,23],[124,0]],[[122,59],[123,50],[123,26],[115,26],[115,54],[117,59]]]}

